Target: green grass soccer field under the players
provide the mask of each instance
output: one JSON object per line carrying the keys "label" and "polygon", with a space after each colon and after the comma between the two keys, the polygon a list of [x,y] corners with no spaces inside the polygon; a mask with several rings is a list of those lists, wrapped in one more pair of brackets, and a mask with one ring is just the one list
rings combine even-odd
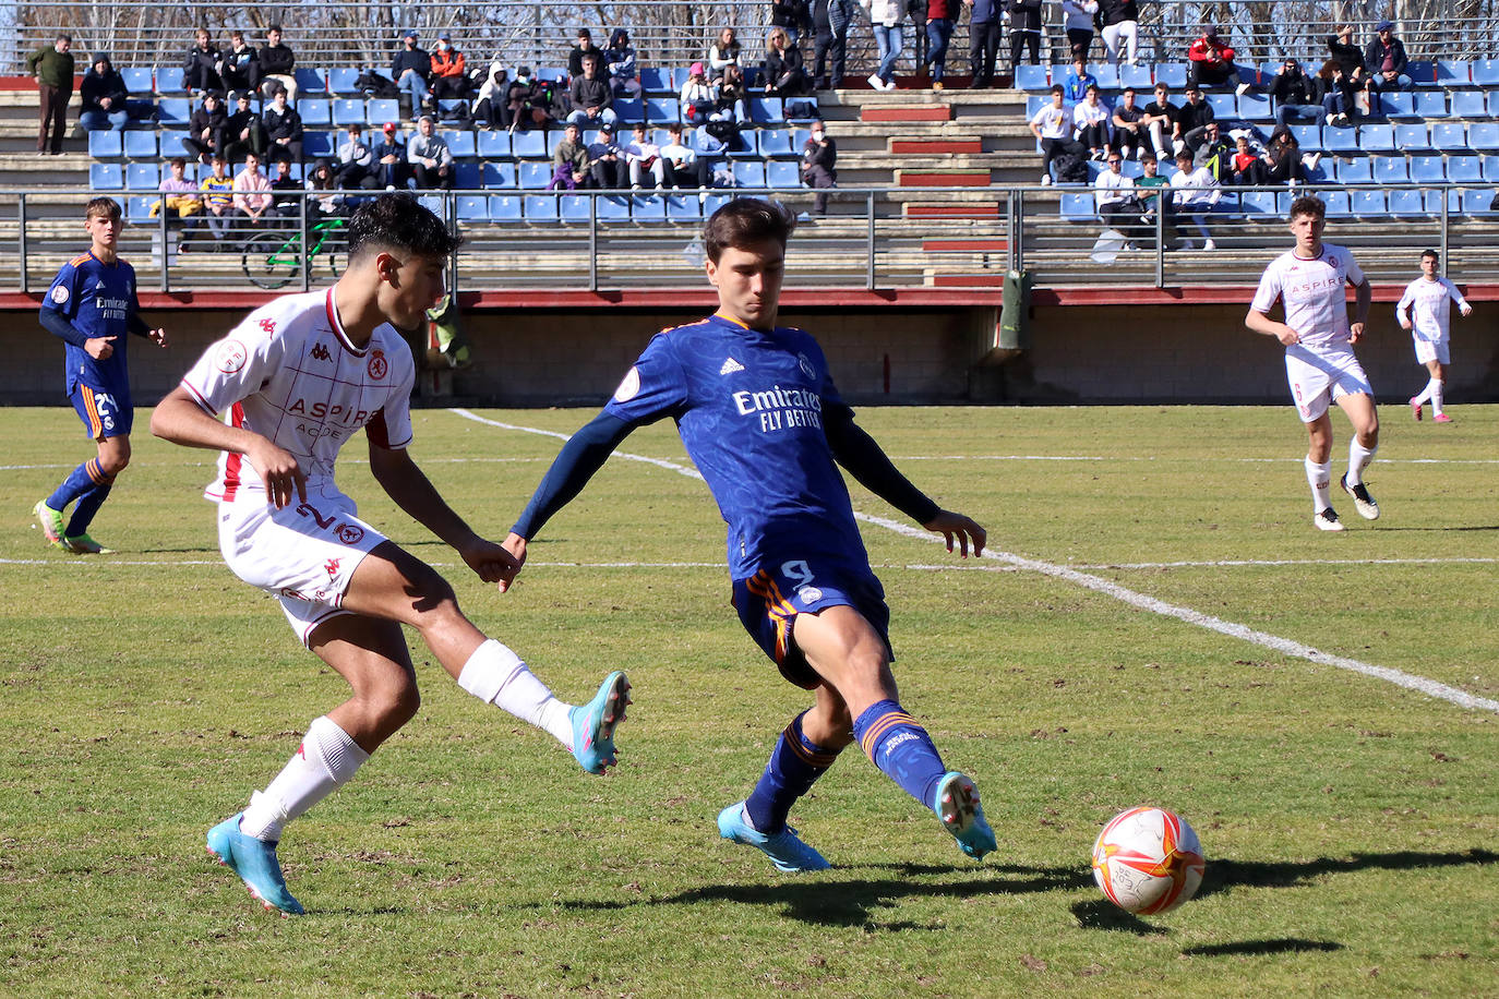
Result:
{"label": "green grass soccer field under the players", "polygon": [[[1000,849],[968,861],[854,747],[793,813],[835,864],[800,878],[714,827],[806,698],[729,607],[700,481],[616,457],[498,596],[351,448],[361,515],[445,566],[481,628],[570,699],[628,669],[636,705],[622,765],[588,777],[418,649],[418,717],[289,827],[310,912],[279,920],[202,836],[342,680],[223,568],[199,499],[211,454],[138,413],[93,530],[120,551],[69,557],[30,508],[91,446],[67,410],[0,410],[0,993],[1495,995],[1499,714],[1118,599],[1492,702],[1499,407],[1453,412],[1385,407],[1384,517],[1336,496],[1349,530],[1324,535],[1289,407],[863,410],[994,553],[1048,571],[865,524],[902,701],[979,782]],[[567,433],[591,413],[480,415]],[[556,448],[417,413],[418,463],[492,536]],[[687,464],[670,427],[624,451]],[[857,488],[854,505],[899,518]],[[1153,920],[1112,909],[1087,867],[1100,825],[1141,803],[1186,816],[1208,857],[1198,899]]]}

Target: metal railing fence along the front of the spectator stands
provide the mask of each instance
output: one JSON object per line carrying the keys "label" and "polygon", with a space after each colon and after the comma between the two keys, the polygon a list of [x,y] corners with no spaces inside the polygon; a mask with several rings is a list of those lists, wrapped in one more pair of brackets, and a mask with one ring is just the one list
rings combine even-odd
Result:
{"label": "metal railing fence along the front of the spectator stands", "polygon": [[[833,192],[827,217],[805,219],[791,246],[788,288],[914,291],[994,289],[1006,271],[1027,270],[1037,288],[1109,285],[1193,288],[1247,285],[1289,247],[1285,210],[1292,192],[1222,189],[1204,219],[1127,219],[1106,229],[1090,189],[928,189],[920,204],[967,205],[965,217],[902,211],[908,189]],[[1318,186],[1331,207],[1327,240],[1346,244],[1379,282],[1408,279],[1421,250],[1436,249],[1454,280],[1499,282],[1499,211],[1493,186]],[[69,205],[93,193],[61,192]],[[451,283],[459,291],[628,291],[702,285],[700,211],[736,193],[778,196],[796,210],[811,192],[715,190],[631,196],[628,192],[427,192],[423,201],[463,234]],[[352,198],[361,196],[358,192]],[[526,199],[495,211],[493,199]],[[1069,199],[1078,199],[1069,202]],[[240,228],[211,240],[199,226],[142,214],[120,253],[142,291],[301,291],[331,283],[343,265],[342,219],[307,201],[274,226]],[[706,205],[703,204],[706,202]],[[1343,214],[1346,213],[1346,214]],[[1391,214],[1397,213],[1397,214]],[[40,292],[81,249],[79,211],[57,192],[0,192],[0,291]],[[1207,234],[1198,223],[1207,226]],[[178,252],[184,237],[187,249]],[[1216,249],[1205,249],[1211,238]]]}

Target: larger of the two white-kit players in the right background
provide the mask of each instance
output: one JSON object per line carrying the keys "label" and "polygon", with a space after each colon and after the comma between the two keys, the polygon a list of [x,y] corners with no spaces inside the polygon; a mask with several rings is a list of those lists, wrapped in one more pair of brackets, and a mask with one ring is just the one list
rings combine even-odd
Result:
{"label": "larger of the two white-kit players in the right background", "polygon": [[[1328,497],[1333,478],[1328,403],[1337,403],[1354,424],[1343,491],[1354,497],[1360,517],[1379,517],[1379,505],[1364,485],[1364,469],[1379,449],[1379,416],[1375,389],[1354,356],[1373,295],[1354,255],[1346,247],[1322,243],[1325,223],[1327,205],[1321,199],[1309,196],[1291,202],[1291,234],[1297,246],[1265,268],[1244,325],[1286,344],[1286,380],[1310,436],[1306,470],[1312,485],[1312,523],[1319,530],[1343,530]],[[1352,324],[1343,291],[1349,283],[1357,289]],[[1270,318],[1276,300],[1285,309],[1285,322]]]}

